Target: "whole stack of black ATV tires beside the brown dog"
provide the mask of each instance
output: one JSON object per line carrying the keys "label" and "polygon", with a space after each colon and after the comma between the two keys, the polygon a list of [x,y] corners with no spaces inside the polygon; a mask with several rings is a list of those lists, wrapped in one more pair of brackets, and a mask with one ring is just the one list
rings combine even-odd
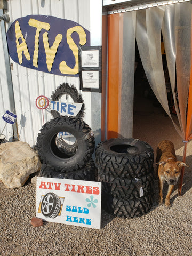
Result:
{"label": "whole stack of black ATV tires beside the brown dog", "polygon": [[153,203],[154,151],[145,141],[117,138],[95,149],[102,207],[117,217],[146,214]]}

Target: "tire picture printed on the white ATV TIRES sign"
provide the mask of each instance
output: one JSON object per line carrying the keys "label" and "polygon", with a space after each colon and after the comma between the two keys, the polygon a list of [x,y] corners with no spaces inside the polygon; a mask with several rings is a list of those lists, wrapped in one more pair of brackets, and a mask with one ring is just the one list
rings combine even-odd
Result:
{"label": "tire picture printed on the white ATV TIRES sign", "polygon": [[45,217],[56,218],[61,210],[61,200],[54,193],[47,193],[42,200],[41,212]]}

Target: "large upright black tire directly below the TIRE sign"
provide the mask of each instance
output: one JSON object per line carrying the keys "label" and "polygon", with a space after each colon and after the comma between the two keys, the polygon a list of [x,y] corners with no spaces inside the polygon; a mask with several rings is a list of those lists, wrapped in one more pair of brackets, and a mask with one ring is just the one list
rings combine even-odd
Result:
{"label": "large upright black tire directly below the TIRE sign", "polygon": [[[63,153],[57,145],[60,132],[73,134],[77,148],[73,155]],[[94,151],[94,137],[90,127],[77,117],[60,116],[43,125],[37,137],[36,150],[42,162],[54,165],[55,170],[71,172],[82,169]]]}

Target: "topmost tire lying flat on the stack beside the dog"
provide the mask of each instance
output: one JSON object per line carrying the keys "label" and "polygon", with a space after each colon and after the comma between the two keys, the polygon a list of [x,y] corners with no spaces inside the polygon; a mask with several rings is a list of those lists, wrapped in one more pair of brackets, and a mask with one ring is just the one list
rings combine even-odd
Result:
{"label": "topmost tire lying flat on the stack beside the dog", "polygon": [[154,151],[145,141],[116,138],[101,141],[95,149],[99,172],[125,179],[139,178],[153,170]]}

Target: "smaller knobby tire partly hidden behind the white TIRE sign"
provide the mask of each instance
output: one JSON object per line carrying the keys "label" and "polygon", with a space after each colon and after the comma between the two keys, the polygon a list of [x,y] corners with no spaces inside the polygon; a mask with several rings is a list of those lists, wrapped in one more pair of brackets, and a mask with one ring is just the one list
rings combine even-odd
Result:
{"label": "smaller knobby tire partly hidden behind the white TIRE sign", "polygon": [[[51,100],[54,101],[62,101],[62,102],[75,102],[75,103],[83,103],[83,98],[81,93],[79,93],[75,87],[75,85],[69,85],[68,83],[60,84],[60,86],[57,87],[55,92],[51,95]],[[55,111],[55,112],[53,112]],[[57,117],[57,111],[53,110],[52,115],[53,117]],[[82,104],[82,108],[77,114],[76,117],[83,118],[84,117],[84,111],[85,111],[85,105]]]}

